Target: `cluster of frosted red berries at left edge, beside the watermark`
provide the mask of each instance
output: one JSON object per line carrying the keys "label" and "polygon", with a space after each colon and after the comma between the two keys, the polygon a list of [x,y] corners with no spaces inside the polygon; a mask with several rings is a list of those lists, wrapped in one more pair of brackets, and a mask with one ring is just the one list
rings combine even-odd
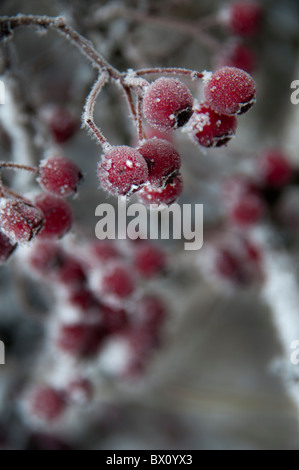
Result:
{"label": "cluster of frosted red berries at left edge, beside the watermark", "polygon": [[64,198],[76,192],[81,178],[80,169],[71,160],[50,157],[41,161],[38,172],[43,193],[33,201],[1,199],[1,262],[9,258],[17,244],[30,242],[35,237],[61,238],[70,230],[73,213]]}

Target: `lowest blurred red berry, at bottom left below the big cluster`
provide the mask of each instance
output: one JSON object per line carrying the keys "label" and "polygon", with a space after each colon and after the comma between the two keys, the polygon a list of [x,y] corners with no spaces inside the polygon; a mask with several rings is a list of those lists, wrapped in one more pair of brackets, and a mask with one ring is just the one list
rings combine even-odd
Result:
{"label": "lowest blurred red berry, at bottom left below the big cluster", "polygon": [[61,392],[47,385],[33,390],[29,401],[32,414],[45,421],[58,419],[66,407]]}

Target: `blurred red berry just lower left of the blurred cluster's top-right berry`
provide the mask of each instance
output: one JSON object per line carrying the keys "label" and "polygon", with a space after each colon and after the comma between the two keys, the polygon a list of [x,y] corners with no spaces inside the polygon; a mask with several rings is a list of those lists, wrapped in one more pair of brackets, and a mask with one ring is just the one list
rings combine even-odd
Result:
{"label": "blurred red berry just lower left of the blurred cluster's top-right berry", "polygon": [[135,279],[126,266],[113,264],[103,274],[101,287],[104,294],[124,299],[134,292]]}

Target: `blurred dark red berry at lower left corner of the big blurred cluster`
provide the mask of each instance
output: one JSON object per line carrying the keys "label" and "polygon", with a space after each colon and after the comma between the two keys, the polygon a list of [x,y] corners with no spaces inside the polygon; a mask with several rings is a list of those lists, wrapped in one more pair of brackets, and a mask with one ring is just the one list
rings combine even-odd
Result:
{"label": "blurred dark red berry at lower left corner of the big blurred cluster", "polygon": [[62,325],[56,339],[59,349],[76,357],[91,357],[102,345],[106,333],[96,325],[82,323]]}

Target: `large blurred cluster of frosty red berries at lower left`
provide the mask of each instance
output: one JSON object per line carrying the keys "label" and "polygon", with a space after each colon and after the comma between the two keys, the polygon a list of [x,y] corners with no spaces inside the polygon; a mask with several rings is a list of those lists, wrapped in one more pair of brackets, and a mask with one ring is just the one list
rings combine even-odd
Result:
{"label": "large blurred cluster of frosty red berries at lower left", "polygon": [[[62,242],[39,240],[25,253],[31,276],[53,287],[55,314],[47,330],[51,347],[86,363],[98,360],[107,345],[121,344],[126,360],[118,375],[141,374],[161,342],[167,316],[164,301],[156,293],[145,293],[142,284],[166,272],[164,251],[143,240],[123,247],[97,241],[68,243],[67,248]],[[37,385],[26,403],[30,414],[50,422],[75,399],[91,400],[93,388],[86,377],[60,389]]]}

